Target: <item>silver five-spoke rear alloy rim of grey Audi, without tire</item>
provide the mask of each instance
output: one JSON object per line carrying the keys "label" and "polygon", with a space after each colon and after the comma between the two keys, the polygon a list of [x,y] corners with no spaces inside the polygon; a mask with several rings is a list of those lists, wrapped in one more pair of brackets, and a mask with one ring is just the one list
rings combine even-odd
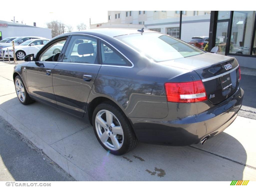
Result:
{"label": "silver five-spoke rear alloy rim of grey Audi, without tire", "polygon": [[101,110],[95,117],[95,128],[101,142],[110,150],[117,151],[123,145],[124,133],[116,116]]}

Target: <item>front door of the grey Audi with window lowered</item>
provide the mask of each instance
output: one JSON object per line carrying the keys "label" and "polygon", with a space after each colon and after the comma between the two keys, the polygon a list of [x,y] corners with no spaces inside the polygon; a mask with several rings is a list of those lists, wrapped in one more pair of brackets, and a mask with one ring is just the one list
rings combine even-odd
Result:
{"label": "front door of the grey Audi with window lowered", "polygon": [[[62,42],[66,40],[61,40]],[[31,61],[27,65],[27,83],[28,90],[31,96],[38,99],[44,103],[56,106],[56,99],[54,96],[53,86],[52,86],[52,73],[54,67],[57,65],[58,55],[48,54],[58,42],[53,42],[47,48],[40,51],[39,55],[36,57],[36,61]]]}

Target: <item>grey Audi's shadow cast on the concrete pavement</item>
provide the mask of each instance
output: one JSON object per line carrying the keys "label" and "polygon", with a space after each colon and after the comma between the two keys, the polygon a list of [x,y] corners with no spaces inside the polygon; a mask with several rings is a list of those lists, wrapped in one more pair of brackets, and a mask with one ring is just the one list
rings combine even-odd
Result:
{"label": "grey Audi's shadow cast on the concrete pavement", "polygon": [[[79,167],[83,174],[89,174],[95,180],[232,181],[243,179],[247,160],[246,151],[236,138],[225,132],[209,139],[202,146],[172,147],[139,143],[131,152],[114,156],[101,147],[92,127],[80,118],[39,102],[22,105],[16,97],[0,104],[0,108],[42,138],[56,150],[56,153],[67,159],[70,173],[72,172],[70,165],[74,165]],[[31,112],[26,115],[28,111]],[[46,133],[51,128],[46,123],[49,117],[58,124],[58,129],[46,137]],[[85,125],[78,129],[77,126],[82,124]],[[44,152],[44,149],[42,151]],[[17,171],[12,169],[13,164],[10,163],[10,156],[15,158],[15,154],[2,155],[2,153],[3,148],[0,146],[3,162],[15,179]],[[52,154],[46,155],[51,158]],[[58,159],[55,163],[59,164]],[[114,165],[115,169],[111,165]],[[81,174],[78,172],[71,174],[76,180],[84,180],[78,175]]]}

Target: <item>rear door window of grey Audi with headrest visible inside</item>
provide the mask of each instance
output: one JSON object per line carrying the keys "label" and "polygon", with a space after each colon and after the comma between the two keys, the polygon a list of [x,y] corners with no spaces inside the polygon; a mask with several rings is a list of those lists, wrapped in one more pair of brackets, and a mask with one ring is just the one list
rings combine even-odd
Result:
{"label": "rear door window of grey Audi with headrest visible inside", "polygon": [[86,36],[72,36],[63,62],[98,64],[97,39]]}

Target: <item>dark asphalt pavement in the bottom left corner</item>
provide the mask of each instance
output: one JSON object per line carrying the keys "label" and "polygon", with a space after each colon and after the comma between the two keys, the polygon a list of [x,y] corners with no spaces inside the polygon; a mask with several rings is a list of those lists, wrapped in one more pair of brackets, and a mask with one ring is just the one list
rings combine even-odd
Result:
{"label": "dark asphalt pavement in the bottom left corner", "polygon": [[73,181],[0,116],[0,181]]}

